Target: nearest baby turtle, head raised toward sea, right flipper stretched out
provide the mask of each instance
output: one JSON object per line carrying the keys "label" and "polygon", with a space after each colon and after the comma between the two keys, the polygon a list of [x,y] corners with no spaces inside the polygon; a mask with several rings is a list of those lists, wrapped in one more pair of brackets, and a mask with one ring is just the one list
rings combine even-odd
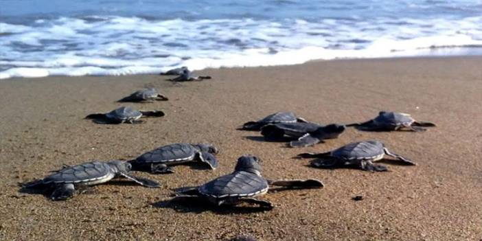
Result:
{"label": "nearest baby turtle, head raised toward sea, right flipper stretched out", "polygon": [[323,183],[316,179],[307,180],[279,180],[269,181],[261,176],[259,159],[251,155],[244,155],[238,159],[234,172],[209,181],[199,187],[185,188],[178,192],[173,200],[204,199],[215,205],[237,205],[251,203],[266,209],[273,205],[265,200],[258,200],[255,196],[266,194],[269,185],[277,185],[289,189],[319,188]]}

